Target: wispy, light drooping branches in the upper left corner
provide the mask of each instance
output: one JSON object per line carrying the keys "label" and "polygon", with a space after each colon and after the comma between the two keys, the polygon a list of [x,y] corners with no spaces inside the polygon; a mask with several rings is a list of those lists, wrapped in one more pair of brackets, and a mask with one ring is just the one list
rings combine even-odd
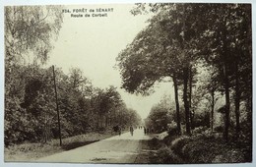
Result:
{"label": "wispy, light drooping branches in the upper left corner", "polygon": [[45,63],[63,21],[60,6],[5,7],[6,67],[25,60],[32,51],[33,61]]}

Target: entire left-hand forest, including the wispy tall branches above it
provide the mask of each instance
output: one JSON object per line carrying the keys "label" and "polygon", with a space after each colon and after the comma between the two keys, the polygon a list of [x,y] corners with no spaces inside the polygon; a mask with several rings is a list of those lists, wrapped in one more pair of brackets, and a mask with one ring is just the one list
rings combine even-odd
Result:
{"label": "entire left-hand forest, including the wispy tall branches above it", "polygon": [[58,139],[59,128],[67,138],[141,123],[117,87],[98,88],[78,68],[64,74],[61,68],[45,67],[63,22],[61,10],[60,6],[5,8],[6,146]]}

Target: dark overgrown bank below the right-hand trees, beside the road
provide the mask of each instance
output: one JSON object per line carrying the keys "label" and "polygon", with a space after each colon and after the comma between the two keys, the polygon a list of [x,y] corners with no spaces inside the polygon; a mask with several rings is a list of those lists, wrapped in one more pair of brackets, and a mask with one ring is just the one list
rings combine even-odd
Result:
{"label": "dark overgrown bank below the right-hand trees, beside the road", "polygon": [[251,150],[244,142],[224,142],[217,134],[192,137],[168,136],[149,142],[157,151],[149,158],[157,164],[240,163],[251,161]]}

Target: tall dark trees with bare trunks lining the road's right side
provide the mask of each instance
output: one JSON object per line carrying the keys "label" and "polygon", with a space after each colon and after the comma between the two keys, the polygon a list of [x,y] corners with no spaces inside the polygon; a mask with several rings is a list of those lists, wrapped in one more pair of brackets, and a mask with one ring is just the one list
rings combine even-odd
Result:
{"label": "tall dark trees with bare trunks lining the road's right side", "polygon": [[[155,16],[117,58],[122,86],[148,95],[155,83],[172,82],[178,134],[181,124],[192,134],[202,106],[210,110],[213,130],[216,103],[222,99],[224,139],[245,137],[251,144],[251,5],[137,4],[132,14],[144,12]],[[200,75],[205,75],[201,81]]]}

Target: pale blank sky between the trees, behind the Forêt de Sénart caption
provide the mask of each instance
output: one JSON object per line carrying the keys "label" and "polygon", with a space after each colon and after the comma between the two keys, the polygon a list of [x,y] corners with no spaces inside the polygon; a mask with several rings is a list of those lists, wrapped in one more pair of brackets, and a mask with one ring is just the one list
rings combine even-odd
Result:
{"label": "pale blank sky between the trees, behind the For\u00eat de S\u00e9nart caption", "polygon": [[[70,68],[80,68],[96,87],[116,86],[127,107],[135,109],[144,119],[152,106],[160,102],[163,94],[173,94],[173,88],[171,83],[159,83],[155,85],[155,93],[146,97],[130,94],[120,88],[122,81],[118,69],[114,68],[115,59],[152,17],[152,14],[131,15],[133,7],[133,4],[65,6],[64,9],[71,13],[64,14],[48,65],[61,67],[65,74],[69,73]],[[91,17],[71,17],[71,14],[75,14],[73,9],[83,8],[87,9],[87,13],[80,14],[91,14]],[[92,17],[92,14],[98,13],[90,13],[89,10],[99,8],[110,8],[112,12],[108,12],[107,17]]]}

